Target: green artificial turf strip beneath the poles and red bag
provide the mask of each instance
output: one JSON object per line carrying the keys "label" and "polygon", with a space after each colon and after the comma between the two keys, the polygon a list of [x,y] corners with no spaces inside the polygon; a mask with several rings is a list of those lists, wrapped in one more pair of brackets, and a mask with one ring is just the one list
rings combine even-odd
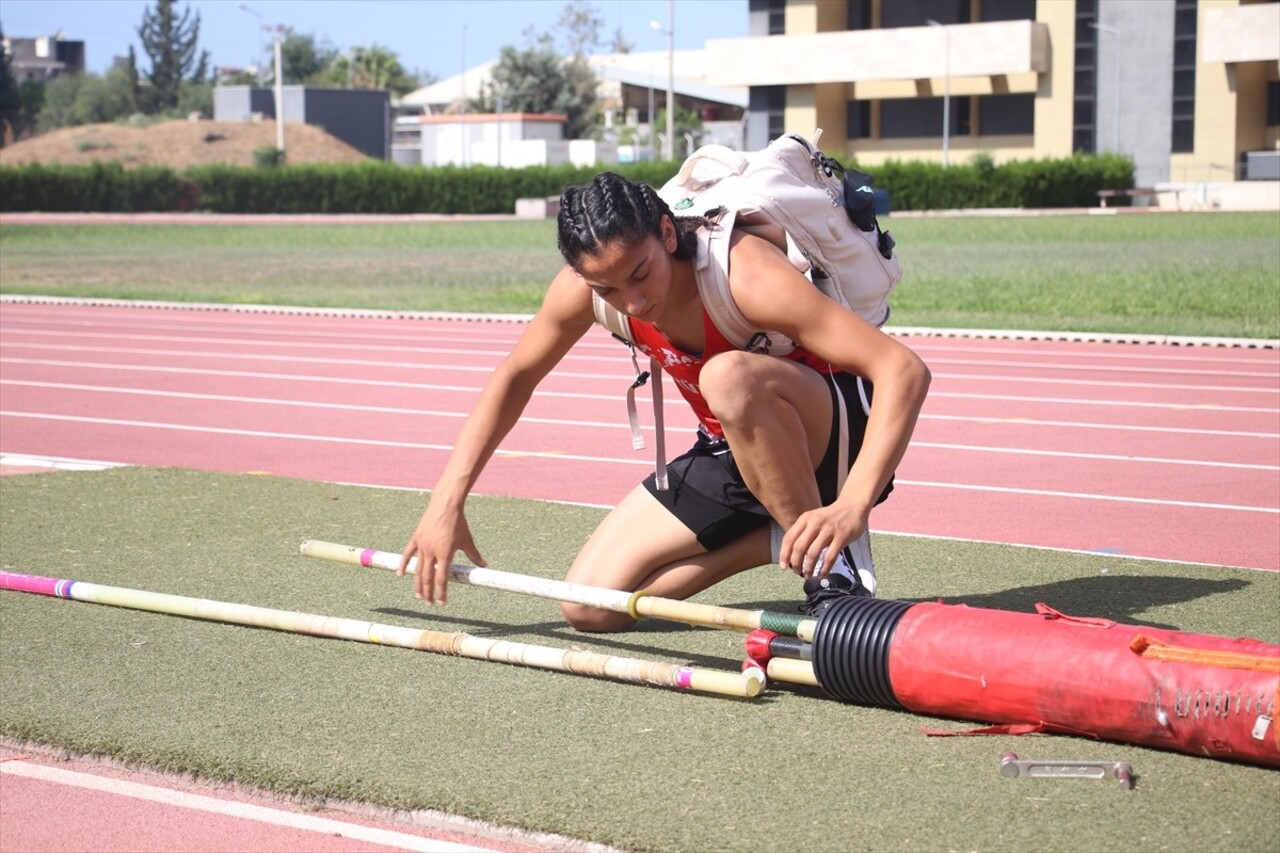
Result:
{"label": "green artificial turf strip beneath the poles and red bag", "polygon": [[[5,570],[736,670],[741,637],[648,621],[608,637],[554,602],[454,584],[421,607],[307,538],[396,551],[424,496],[115,469],[0,479]],[[490,565],[558,578],[600,511],[475,497]],[[882,596],[1280,642],[1280,574],[877,537]],[[699,599],[790,610],[776,567]],[[1274,850],[1280,774],[1082,738],[928,738],[973,724],[818,690],[694,695],[0,593],[0,734],[310,798],[434,808],[644,850]],[[1128,761],[1126,792],[1012,780],[1024,758]]]}

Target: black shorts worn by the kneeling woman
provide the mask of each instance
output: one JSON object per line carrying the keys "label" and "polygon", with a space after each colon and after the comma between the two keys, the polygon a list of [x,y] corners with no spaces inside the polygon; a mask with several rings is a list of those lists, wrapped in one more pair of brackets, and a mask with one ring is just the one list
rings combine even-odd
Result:
{"label": "black shorts worn by the kneeling woman", "polygon": [[[844,480],[863,446],[863,435],[867,433],[867,412],[863,409],[863,396],[859,393],[859,384],[865,389],[868,407],[872,400],[872,383],[859,382],[858,377],[847,373],[837,373],[827,377],[831,388],[831,441],[827,443],[827,452],[822,457],[822,464],[814,471],[818,478],[818,493],[822,496],[823,506],[832,503],[838,492],[838,483]],[[840,394],[836,393],[836,386]],[[845,400],[845,448],[847,465],[845,471],[840,471],[841,456],[841,418],[840,396]],[[659,503],[680,519],[680,521],[694,532],[698,542],[708,551],[714,551],[722,546],[739,539],[756,528],[768,524],[769,512],[756,500],[733,461],[733,451],[724,441],[713,441],[701,430],[698,442],[687,452],[677,456],[667,464],[667,476],[671,488],[658,491],[655,478],[650,474],[644,487]],[[876,500],[881,503],[893,491],[893,479]]]}

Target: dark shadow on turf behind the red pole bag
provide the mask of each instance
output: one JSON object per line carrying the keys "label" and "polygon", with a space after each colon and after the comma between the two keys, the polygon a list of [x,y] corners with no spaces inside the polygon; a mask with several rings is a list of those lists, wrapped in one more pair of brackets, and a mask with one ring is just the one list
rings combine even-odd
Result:
{"label": "dark shadow on turf behind the red pole bag", "polygon": [[[1238,592],[1249,587],[1247,580],[1226,578],[1170,578],[1149,575],[1100,575],[1073,578],[1047,584],[1015,587],[992,593],[974,593],[942,598],[945,605],[968,605],[989,610],[1034,612],[1043,602],[1070,616],[1094,616],[1117,622],[1140,624],[1169,630],[1196,630],[1194,625],[1165,625],[1143,617],[1143,613],[1169,605],[1183,605],[1198,598]],[[925,602],[938,598],[906,598]],[[750,602],[739,605],[744,610],[786,610],[795,602]]]}

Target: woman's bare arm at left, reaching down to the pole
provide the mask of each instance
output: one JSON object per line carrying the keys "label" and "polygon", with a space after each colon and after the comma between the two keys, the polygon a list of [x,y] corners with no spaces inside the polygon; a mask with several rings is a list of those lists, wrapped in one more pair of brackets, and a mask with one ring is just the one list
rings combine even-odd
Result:
{"label": "woman's bare arm at left, reaching down to the pole", "polygon": [[415,594],[428,605],[445,602],[449,564],[458,551],[475,565],[485,565],[467,525],[467,496],[498,444],[520,420],[534,388],[586,333],[593,319],[590,288],[568,266],[562,268],[529,328],[485,383],[431,489],[422,520],[401,555],[399,575],[417,557]]}

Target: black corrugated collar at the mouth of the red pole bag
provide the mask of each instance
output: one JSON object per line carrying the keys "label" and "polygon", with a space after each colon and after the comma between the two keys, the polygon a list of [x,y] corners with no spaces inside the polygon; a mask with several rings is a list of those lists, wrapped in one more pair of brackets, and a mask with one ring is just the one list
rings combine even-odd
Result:
{"label": "black corrugated collar at the mouth of the red pole bag", "polygon": [[888,678],[888,647],[911,602],[844,598],[818,619],[813,672],[823,689],[856,704],[901,708]]}

